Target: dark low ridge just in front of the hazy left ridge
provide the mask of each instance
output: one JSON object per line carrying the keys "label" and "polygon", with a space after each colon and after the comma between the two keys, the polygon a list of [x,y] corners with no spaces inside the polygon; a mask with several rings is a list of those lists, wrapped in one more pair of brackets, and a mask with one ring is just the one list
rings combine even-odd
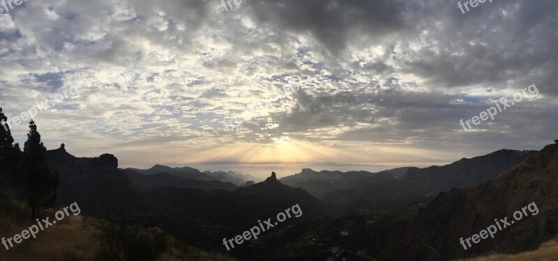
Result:
{"label": "dark low ridge just in front of the hazy left ridge", "polygon": [[220,182],[218,180],[191,180],[168,173],[157,173],[144,175],[130,169],[123,170],[134,187],[142,191],[158,189],[163,187],[181,187],[201,190],[225,189],[232,191],[238,189],[231,182]]}

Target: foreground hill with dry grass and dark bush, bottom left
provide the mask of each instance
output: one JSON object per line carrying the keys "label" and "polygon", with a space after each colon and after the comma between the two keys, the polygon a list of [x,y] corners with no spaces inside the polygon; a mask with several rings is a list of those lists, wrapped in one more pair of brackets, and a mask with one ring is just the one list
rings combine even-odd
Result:
{"label": "foreground hill with dry grass and dark bush, bottom left", "polygon": [[[54,216],[54,212],[60,209],[47,209],[43,215]],[[15,203],[10,200],[0,199],[0,233],[2,237],[12,237],[22,230],[26,230],[29,226],[35,224],[35,221],[28,219],[29,207],[22,203]],[[126,224],[121,226],[123,230],[135,233],[129,234],[130,241],[120,242],[126,246],[125,248],[116,248],[107,244],[105,232],[107,228],[111,228],[111,222],[104,219],[94,219],[89,216],[67,216],[59,221],[52,228],[37,234],[36,239],[30,237],[24,239],[22,243],[15,244],[14,248],[6,250],[0,245],[1,261],[100,261],[100,260],[123,260],[114,259],[107,256],[107,253],[116,253],[120,258],[126,257],[126,249],[134,249],[142,247],[139,239],[149,240],[149,237],[142,235],[160,235],[158,228],[146,228],[144,226],[133,226]],[[165,242],[165,251],[156,255],[156,260],[200,260],[200,261],[233,261],[223,255],[216,255],[201,251],[191,246],[186,246],[169,235],[163,235]],[[140,260],[148,260],[144,255]],[[128,257],[130,260],[130,257]],[[137,260],[137,259],[136,259]],[[140,261],[137,260],[137,261]]]}

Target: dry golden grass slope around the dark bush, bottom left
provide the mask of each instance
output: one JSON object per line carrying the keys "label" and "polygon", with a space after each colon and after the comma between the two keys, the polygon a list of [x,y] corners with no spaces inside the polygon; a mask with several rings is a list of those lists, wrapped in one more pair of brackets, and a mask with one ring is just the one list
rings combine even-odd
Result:
{"label": "dry golden grass slope around the dark bush, bottom left", "polygon": [[[59,210],[59,209],[56,209]],[[54,209],[47,209],[41,216],[48,215],[54,218]],[[0,239],[1,237],[13,237],[20,234],[22,230],[36,224],[31,220],[27,205],[15,203],[9,200],[0,200]],[[98,260],[96,255],[100,248],[98,229],[107,221],[93,219],[86,216],[70,216],[56,225],[38,233],[37,238],[24,239],[14,248],[6,250],[0,244],[0,261],[35,261],[35,260]],[[233,261],[222,255],[214,255],[184,246],[174,237],[168,236],[169,248],[159,256],[158,261],[163,260],[217,260]],[[9,246],[9,244],[8,244]]]}

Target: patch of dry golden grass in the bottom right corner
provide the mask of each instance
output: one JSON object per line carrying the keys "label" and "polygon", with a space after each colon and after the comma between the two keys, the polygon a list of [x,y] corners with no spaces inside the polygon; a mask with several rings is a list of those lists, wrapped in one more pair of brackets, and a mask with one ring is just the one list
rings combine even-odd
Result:
{"label": "patch of dry golden grass in the bottom right corner", "polygon": [[558,240],[552,239],[541,244],[536,251],[520,253],[517,255],[492,254],[481,258],[465,259],[463,261],[558,261]]}

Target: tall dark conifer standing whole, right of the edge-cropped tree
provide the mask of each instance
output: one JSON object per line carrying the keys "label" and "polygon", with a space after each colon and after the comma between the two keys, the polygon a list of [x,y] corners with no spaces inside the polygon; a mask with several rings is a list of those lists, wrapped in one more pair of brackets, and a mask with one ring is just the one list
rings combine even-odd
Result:
{"label": "tall dark conifer standing whole, right of the edge-cropped tree", "polygon": [[29,122],[29,129],[23,148],[21,171],[16,180],[27,196],[32,218],[36,219],[40,207],[54,205],[60,178],[58,173],[53,175],[50,171],[47,164],[47,148],[40,142],[40,134],[33,120]]}

